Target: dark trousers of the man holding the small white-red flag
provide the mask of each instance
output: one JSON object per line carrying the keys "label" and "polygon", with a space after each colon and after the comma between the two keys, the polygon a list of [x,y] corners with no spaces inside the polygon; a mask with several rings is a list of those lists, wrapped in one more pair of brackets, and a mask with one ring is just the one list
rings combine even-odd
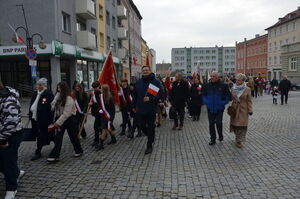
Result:
{"label": "dark trousers of the man holding the small white-red flag", "polygon": [[148,137],[148,145],[153,144],[155,139],[155,119],[156,115],[143,115],[138,114],[138,122],[140,125],[141,130],[146,134]]}

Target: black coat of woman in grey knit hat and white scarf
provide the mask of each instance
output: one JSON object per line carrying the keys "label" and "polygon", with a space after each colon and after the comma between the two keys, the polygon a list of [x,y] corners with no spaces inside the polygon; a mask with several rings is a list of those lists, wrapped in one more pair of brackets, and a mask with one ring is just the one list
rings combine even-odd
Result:
{"label": "black coat of woman in grey knit hat and white scarf", "polygon": [[[30,111],[30,108],[34,103],[36,97],[37,92],[34,92],[29,106],[29,119],[32,119],[32,112]],[[45,90],[41,94],[37,105],[37,123],[39,126],[47,126],[48,128],[48,125],[53,123],[54,112],[51,111],[51,102],[53,101],[53,99],[54,95],[49,90]]]}

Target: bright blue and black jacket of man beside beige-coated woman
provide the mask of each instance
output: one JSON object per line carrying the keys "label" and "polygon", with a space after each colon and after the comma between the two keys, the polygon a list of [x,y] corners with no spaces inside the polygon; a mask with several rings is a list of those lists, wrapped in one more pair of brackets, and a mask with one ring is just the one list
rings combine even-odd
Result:
{"label": "bright blue and black jacket of man beside beige-coated woman", "polygon": [[211,113],[224,111],[231,96],[228,85],[218,81],[207,83],[203,87],[202,99]]}

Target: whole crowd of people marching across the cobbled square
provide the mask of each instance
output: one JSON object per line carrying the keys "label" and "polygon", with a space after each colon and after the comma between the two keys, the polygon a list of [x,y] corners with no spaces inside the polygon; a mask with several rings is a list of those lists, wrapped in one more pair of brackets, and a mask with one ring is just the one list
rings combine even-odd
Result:
{"label": "whole crowd of people marching across the cobbled square", "polygon": [[[280,84],[272,82],[272,95],[277,96],[279,90],[282,104],[287,103],[291,83],[286,77]],[[74,148],[73,156],[82,156],[80,138],[87,137],[84,125],[89,111],[94,117],[92,146],[96,150],[103,150],[108,137],[108,145],[117,142],[113,93],[108,85],[100,85],[98,81],[93,82],[92,88],[92,92],[86,93],[81,84],[74,84],[71,90],[68,84],[61,82],[53,95],[47,89],[47,79],[37,81],[29,108],[32,131],[37,137],[32,161],[42,157],[43,147],[51,141],[54,142],[54,147],[47,161],[59,161],[65,131]],[[163,118],[169,115],[173,120],[172,130],[182,130],[186,108],[192,120],[199,121],[202,105],[206,105],[209,145],[215,145],[217,137],[220,142],[223,141],[223,113],[227,112],[230,115],[230,131],[236,135],[236,146],[241,148],[246,138],[248,118],[253,114],[252,98],[262,95],[263,88],[263,78],[248,78],[244,74],[237,74],[235,78],[229,79],[221,78],[217,72],[213,72],[209,81],[202,81],[200,76],[186,80],[181,73],[177,73],[173,81],[169,75],[162,80],[155,77],[150,67],[144,66],[142,78],[135,84],[128,84],[126,79],[120,81],[118,96],[121,102],[119,110],[122,114],[122,130],[119,135],[127,135],[130,139],[146,135],[145,154],[150,154],[155,140],[155,128],[161,125]],[[5,199],[15,197],[17,181],[24,175],[24,171],[17,165],[18,148],[22,141],[18,98],[15,89],[5,87],[0,81],[0,171],[6,181]],[[229,102],[230,105],[225,110]]]}

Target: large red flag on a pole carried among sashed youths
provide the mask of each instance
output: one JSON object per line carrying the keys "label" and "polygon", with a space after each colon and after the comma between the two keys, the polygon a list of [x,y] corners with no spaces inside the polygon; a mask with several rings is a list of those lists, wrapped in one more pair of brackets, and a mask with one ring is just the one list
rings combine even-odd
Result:
{"label": "large red flag on a pole carried among sashed youths", "polygon": [[115,104],[117,106],[120,106],[119,85],[115,74],[116,73],[112,53],[111,51],[109,51],[98,81],[100,82],[100,84],[107,84],[109,86],[110,90],[114,94]]}

